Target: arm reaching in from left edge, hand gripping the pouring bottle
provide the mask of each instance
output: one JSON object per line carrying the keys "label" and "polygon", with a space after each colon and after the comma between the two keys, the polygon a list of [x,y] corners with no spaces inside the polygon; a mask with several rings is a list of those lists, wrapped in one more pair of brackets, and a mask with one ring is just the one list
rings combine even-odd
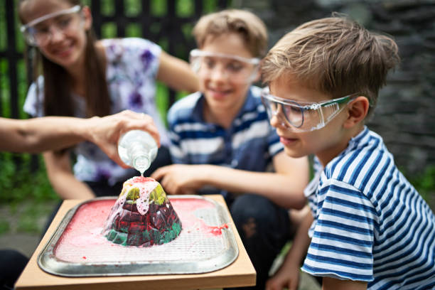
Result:
{"label": "arm reaching in from left edge, hand gripping the pouring bottle", "polygon": [[159,132],[151,117],[124,111],[107,117],[81,119],[73,117],[41,117],[16,120],[0,118],[0,151],[41,152],[67,148],[80,141],[91,141],[119,165],[124,163],[117,153],[119,136],[131,129],[148,131],[157,144]]}

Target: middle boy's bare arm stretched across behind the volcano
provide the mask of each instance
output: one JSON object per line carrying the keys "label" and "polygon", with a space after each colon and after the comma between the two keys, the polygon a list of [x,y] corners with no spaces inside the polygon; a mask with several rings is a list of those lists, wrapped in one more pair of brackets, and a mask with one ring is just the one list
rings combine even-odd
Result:
{"label": "middle boy's bare arm stretched across behind the volcano", "polygon": [[157,169],[151,177],[161,181],[169,194],[190,194],[203,186],[231,193],[256,193],[284,208],[306,204],[308,159],[292,159],[283,152],[274,156],[276,172],[253,172],[213,165],[173,164]]}

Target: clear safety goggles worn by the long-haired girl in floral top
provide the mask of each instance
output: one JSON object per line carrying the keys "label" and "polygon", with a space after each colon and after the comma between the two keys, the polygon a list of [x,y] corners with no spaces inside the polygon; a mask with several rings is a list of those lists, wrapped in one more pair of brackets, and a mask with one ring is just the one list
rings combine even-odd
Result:
{"label": "clear safety goggles worn by the long-haired girl in floral top", "polygon": [[[23,33],[26,42],[29,45],[44,45],[50,41],[53,36],[53,27],[57,32],[65,33],[73,29],[77,29],[79,19],[75,18],[73,14],[76,14],[81,9],[80,5],[71,7],[70,9],[64,9],[56,11],[39,18],[33,19],[26,25],[21,26],[20,31]],[[42,22],[53,18],[53,22],[50,25],[43,25]]]}

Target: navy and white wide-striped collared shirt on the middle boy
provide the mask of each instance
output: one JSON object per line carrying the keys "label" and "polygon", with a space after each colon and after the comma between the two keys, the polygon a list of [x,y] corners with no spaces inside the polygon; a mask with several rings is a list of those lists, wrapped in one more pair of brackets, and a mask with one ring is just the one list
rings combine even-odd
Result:
{"label": "navy and white wide-striped collared shirt on the middle boy", "polygon": [[[204,104],[204,96],[195,92],[173,104],[169,110],[173,163],[214,164],[247,171],[267,171],[272,157],[284,146],[269,124],[259,87],[249,88],[245,104],[228,129],[205,122]],[[226,194],[220,191],[215,193],[218,192]]]}

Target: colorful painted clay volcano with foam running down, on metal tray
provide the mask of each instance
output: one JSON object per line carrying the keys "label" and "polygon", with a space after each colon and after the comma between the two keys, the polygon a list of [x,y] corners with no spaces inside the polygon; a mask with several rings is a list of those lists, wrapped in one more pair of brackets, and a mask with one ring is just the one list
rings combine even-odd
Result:
{"label": "colorful painted clay volcano with foam running down, on metal tray", "polygon": [[136,176],[124,182],[102,234],[115,244],[149,247],[171,242],[180,232],[181,221],[160,183]]}

